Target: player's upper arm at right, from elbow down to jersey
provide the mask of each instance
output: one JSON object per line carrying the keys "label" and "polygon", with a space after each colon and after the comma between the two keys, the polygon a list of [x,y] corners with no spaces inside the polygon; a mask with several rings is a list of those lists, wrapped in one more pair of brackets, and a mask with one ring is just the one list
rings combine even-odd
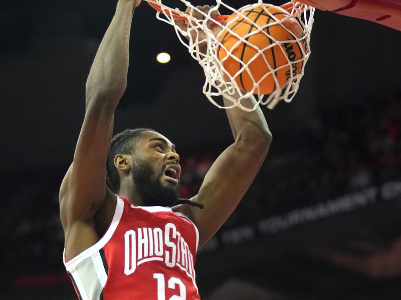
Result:
{"label": "player's upper arm at right, from elbow down to jersey", "polygon": [[191,208],[202,245],[223,225],[237,207],[262,165],[269,145],[236,142],[215,161],[193,200],[204,209]]}

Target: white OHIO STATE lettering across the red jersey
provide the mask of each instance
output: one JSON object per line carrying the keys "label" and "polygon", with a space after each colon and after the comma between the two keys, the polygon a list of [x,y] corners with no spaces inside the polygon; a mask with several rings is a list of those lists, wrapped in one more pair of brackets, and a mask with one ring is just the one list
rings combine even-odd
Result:
{"label": "white OHIO STATE lettering across the red jersey", "polygon": [[164,228],[142,227],[124,234],[124,273],[130,275],[138,265],[152,260],[164,261],[168,267],[177,266],[193,278],[193,256],[189,246],[173,223]]}

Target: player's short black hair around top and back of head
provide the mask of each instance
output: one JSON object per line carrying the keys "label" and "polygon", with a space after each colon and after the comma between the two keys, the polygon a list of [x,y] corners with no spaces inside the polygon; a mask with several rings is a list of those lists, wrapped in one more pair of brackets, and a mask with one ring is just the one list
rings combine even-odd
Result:
{"label": "player's short black hair around top and back of head", "polygon": [[143,131],[157,132],[151,128],[125,129],[114,135],[111,140],[110,152],[106,162],[107,185],[115,193],[120,189],[120,176],[114,165],[114,157],[117,154],[133,154]]}

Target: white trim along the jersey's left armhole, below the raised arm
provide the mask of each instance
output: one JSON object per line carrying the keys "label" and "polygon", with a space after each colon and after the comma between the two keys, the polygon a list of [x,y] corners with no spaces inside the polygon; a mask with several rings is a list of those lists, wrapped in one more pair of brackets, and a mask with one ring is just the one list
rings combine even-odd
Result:
{"label": "white trim along the jersey's left armhole, below the raised arm", "polygon": [[114,231],[116,230],[118,223],[120,222],[124,210],[124,200],[121,199],[119,196],[116,197],[117,197],[117,204],[116,204],[116,210],[114,211],[113,219],[111,221],[109,228],[107,229],[105,234],[99,239],[99,241],[97,241],[94,245],[82,251],[69,261],[66,261],[66,256],[65,256],[66,250],[64,249],[63,261],[68,271],[75,269],[82,261],[95,255],[96,252],[98,252],[101,248],[103,248],[113,236]]}

